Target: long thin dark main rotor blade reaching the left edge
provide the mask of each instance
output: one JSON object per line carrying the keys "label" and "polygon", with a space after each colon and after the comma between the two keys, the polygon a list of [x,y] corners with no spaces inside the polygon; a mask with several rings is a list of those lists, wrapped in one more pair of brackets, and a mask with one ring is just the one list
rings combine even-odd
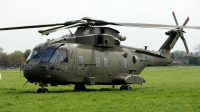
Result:
{"label": "long thin dark main rotor blade reaching the left edge", "polygon": [[16,30],[16,29],[28,29],[28,28],[41,28],[41,27],[50,27],[50,26],[58,26],[58,25],[64,25],[64,23],[8,27],[8,28],[0,28],[0,30]]}

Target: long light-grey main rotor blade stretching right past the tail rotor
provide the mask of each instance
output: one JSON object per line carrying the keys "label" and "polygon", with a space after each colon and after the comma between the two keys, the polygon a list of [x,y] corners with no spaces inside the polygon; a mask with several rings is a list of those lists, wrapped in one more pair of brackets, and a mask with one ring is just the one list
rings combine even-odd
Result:
{"label": "long light-grey main rotor blade stretching right past the tail rotor", "polygon": [[[148,23],[111,23],[111,25],[142,27],[142,28],[177,28],[176,25],[148,24]],[[178,26],[179,28],[200,29],[200,26]]]}

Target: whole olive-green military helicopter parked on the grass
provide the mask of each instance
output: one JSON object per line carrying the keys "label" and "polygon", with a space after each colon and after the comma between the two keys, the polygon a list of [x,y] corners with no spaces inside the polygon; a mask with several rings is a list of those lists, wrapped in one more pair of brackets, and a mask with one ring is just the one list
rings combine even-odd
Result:
{"label": "whole olive-green military helicopter parked on the grass", "polygon": [[[48,93],[45,88],[51,86],[74,84],[74,90],[84,91],[85,85],[121,85],[120,90],[132,90],[129,84],[142,84],[145,79],[139,74],[146,66],[167,66],[172,63],[170,50],[179,37],[183,40],[187,53],[189,52],[183,28],[200,29],[198,26],[179,26],[173,12],[176,25],[144,24],[144,23],[116,23],[95,20],[84,17],[81,20],[67,21],[58,24],[19,26],[0,28],[0,30],[14,30],[26,28],[52,27],[39,30],[42,35],[77,27],[73,34],[64,35],[56,39],[35,46],[23,66],[24,77],[27,82],[39,84],[38,93]],[[158,51],[128,47],[120,45],[126,40],[116,29],[105,25],[118,25],[144,28],[175,28],[166,32],[168,39]],[[26,83],[25,83],[26,84]]]}

